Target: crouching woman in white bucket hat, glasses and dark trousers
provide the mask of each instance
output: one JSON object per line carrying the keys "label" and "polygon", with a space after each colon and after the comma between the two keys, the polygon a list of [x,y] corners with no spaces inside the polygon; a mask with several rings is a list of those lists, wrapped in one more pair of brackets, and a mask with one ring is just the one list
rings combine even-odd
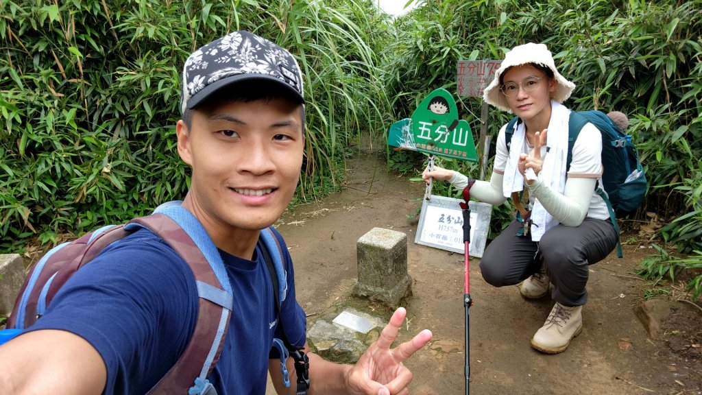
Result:
{"label": "crouching woman in white bucket hat, glasses and dark trousers", "polygon": [[[428,180],[446,180],[470,196],[501,205],[510,195],[526,209],[484,251],[482,276],[496,287],[519,285],[527,299],[543,297],[553,285],[553,309],[531,339],[531,346],[548,354],[567,349],[583,328],[581,311],[587,302],[588,265],[604,259],[619,235],[607,205],[595,193],[602,176],[602,138],[586,124],[566,167],[570,110],[561,103],[575,84],[556,70],[544,44],[524,44],[505,56],[483,99],[513,112],[510,141],[504,125],[490,181],[469,180],[457,171],[434,167],[423,172]],[[528,199],[527,199],[528,195]]]}

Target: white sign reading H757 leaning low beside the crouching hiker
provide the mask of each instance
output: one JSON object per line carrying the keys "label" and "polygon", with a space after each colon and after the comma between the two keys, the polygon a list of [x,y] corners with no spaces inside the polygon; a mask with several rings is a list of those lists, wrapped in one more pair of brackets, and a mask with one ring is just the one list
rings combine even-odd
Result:
{"label": "white sign reading H757 leaning low beside the crouching hiker", "polygon": [[[465,252],[463,241],[463,200],[433,195],[424,200],[414,242],[451,252]],[[482,257],[490,228],[492,205],[470,202],[471,257]]]}

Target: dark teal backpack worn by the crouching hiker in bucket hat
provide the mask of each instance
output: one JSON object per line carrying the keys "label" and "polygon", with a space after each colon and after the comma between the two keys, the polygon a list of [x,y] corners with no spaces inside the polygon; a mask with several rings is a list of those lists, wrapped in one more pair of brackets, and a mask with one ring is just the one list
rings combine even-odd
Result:
{"label": "dark teal backpack worn by the crouching hiker in bucket hat", "polygon": [[[519,117],[512,118],[505,129],[508,150],[517,122],[521,122]],[[595,191],[607,203],[609,216],[618,234],[619,228],[616,224],[616,218],[632,214],[644,201],[647,190],[646,175],[639,160],[638,150],[631,142],[631,136],[625,135],[623,130],[619,129],[600,110],[571,112],[568,122],[566,171],[570,169],[573,159],[573,145],[578,139],[578,134],[588,122],[600,129],[600,134],[602,134],[603,185],[602,188],[598,187]],[[617,248],[618,256],[621,257],[621,244]]]}

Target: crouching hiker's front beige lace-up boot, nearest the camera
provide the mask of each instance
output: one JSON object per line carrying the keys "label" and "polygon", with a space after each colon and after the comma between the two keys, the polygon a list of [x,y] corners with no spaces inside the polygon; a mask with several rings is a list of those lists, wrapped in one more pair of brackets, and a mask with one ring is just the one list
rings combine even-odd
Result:
{"label": "crouching hiker's front beige lace-up boot, nearest the camera", "polygon": [[556,302],[546,322],[531,339],[531,347],[547,354],[565,351],[571,339],[583,330],[583,306],[568,307]]}

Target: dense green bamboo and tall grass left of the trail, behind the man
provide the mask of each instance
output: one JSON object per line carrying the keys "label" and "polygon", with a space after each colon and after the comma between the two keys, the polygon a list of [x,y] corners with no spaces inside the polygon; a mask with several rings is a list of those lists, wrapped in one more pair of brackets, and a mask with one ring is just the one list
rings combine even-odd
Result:
{"label": "dense green bamboo and tall grass left of the trail, behind the man", "polygon": [[27,238],[145,214],[181,198],[180,68],[198,46],[250,30],[305,73],[307,144],[298,200],[336,190],[389,101],[366,1],[0,1],[0,250]]}

